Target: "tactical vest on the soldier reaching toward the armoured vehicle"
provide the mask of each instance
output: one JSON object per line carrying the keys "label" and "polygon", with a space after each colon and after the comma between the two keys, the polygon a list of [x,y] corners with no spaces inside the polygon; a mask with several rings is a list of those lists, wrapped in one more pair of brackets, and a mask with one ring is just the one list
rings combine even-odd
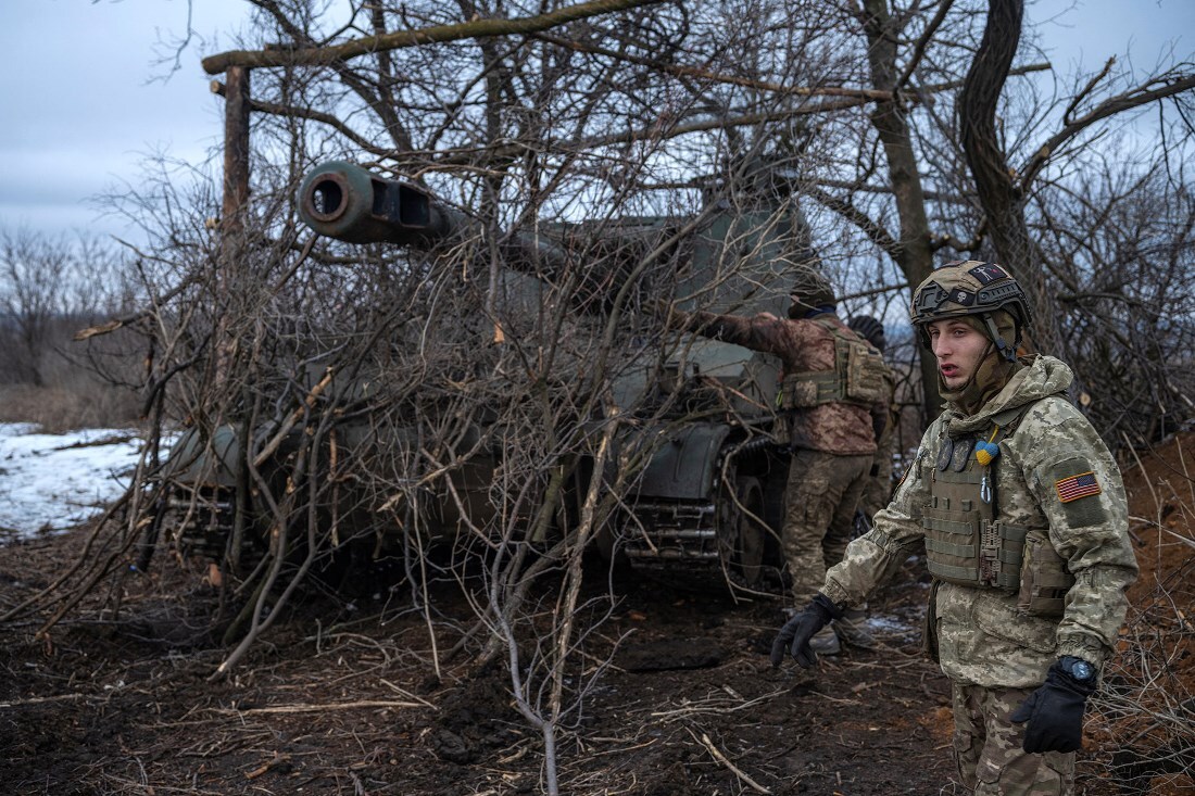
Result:
{"label": "tactical vest on the soldier reaching toward the armoured vehicle", "polygon": [[834,336],[834,368],[790,373],[780,381],[780,409],[811,409],[821,404],[847,403],[871,406],[885,400],[884,357],[828,317],[815,318]]}

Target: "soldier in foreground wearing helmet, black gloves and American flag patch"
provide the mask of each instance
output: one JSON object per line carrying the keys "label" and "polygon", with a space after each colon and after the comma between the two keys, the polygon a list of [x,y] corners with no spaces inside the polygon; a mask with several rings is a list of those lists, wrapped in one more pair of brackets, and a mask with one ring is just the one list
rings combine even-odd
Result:
{"label": "soldier in foreground wearing helmet, black gloves and American flag patch", "polygon": [[1121,476],[1065,397],[1071,369],[1016,356],[1028,317],[993,263],[949,263],[918,287],[912,322],[948,406],[772,649],[773,665],[789,649],[813,666],[809,637],[924,539],[926,649],[951,681],[958,776],[981,796],[1074,792],[1084,705],[1136,577]]}

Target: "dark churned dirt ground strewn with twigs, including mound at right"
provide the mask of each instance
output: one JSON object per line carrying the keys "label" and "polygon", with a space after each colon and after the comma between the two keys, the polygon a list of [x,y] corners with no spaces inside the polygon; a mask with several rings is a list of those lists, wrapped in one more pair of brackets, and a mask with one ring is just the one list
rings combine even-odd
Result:
{"label": "dark churned dirt ground strewn with twigs, including mound at right", "polygon": [[[1195,786],[1177,767],[1195,736],[1183,736],[1195,727],[1195,435],[1139,455],[1126,482],[1142,577],[1105,684],[1115,698],[1093,705],[1079,766],[1080,792],[1099,796]],[[84,534],[0,550],[0,612],[53,582]],[[93,589],[97,604],[120,590],[115,617],[85,601],[47,637],[35,637],[45,616],[2,625],[0,794],[546,792],[544,736],[517,711],[504,661],[430,663],[472,624],[454,587],[431,595],[434,637],[428,616],[399,607],[406,587],[308,593],[213,679],[228,651],[209,620],[216,590],[197,564],[155,565]],[[872,601],[880,647],[814,672],[770,666],[777,604],[617,581],[613,614],[565,681],[586,697],[556,739],[560,792],[962,794],[949,686],[919,651],[924,581],[908,562]],[[1159,727],[1160,710],[1171,720]]]}

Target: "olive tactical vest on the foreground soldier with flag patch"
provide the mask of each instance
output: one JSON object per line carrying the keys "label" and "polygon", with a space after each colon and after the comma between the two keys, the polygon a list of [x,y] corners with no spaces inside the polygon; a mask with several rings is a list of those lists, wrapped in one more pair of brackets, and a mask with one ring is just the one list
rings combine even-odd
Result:
{"label": "olive tactical vest on the foreground soldier with flag patch", "polygon": [[[988,441],[999,445],[1031,405],[994,415]],[[995,516],[993,464],[980,464],[975,440],[951,440],[943,427],[921,513],[930,574],[948,583],[1018,593],[1017,607],[1031,616],[1062,616],[1074,576],[1050,544],[1048,529]]]}

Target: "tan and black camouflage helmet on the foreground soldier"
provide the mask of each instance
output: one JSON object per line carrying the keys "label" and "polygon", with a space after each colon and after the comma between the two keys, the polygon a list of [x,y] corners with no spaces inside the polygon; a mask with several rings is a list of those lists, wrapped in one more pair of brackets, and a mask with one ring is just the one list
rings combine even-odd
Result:
{"label": "tan and black camouflage helmet on the foreground soldier", "polygon": [[[993,313],[999,310],[1007,312],[1016,326],[1011,345],[997,330]],[[1007,269],[978,259],[954,261],[930,274],[913,293],[909,320],[926,348],[930,348],[929,324],[963,316],[979,316],[1000,355],[1016,361],[1021,335],[1029,325],[1029,301]]]}

